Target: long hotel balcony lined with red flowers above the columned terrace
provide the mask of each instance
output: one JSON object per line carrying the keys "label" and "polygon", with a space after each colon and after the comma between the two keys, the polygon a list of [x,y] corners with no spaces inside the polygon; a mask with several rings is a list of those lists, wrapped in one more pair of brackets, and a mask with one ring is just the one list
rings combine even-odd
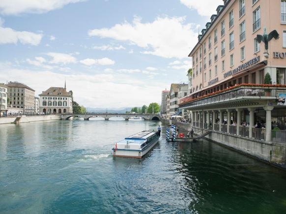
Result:
{"label": "long hotel balcony lined with red flowers above the columned terrace", "polygon": [[227,102],[243,100],[253,102],[261,99],[273,100],[279,97],[279,94],[286,94],[286,85],[241,84],[209,95],[186,97],[180,100],[180,107],[201,108],[213,104],[226,104]]}

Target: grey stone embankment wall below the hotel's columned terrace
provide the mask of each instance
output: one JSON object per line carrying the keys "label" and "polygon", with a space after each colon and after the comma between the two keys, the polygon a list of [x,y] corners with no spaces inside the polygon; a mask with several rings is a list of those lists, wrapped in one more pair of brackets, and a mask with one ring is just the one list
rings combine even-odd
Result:
{"label": "grey stone embankment wall below the hotel's columned terrace", "polygon": [[[165,121],[168,124],[168,121]],[[192,128],[191,123],[173,122],[182,131],[189,131]],[[200,134],[202,129],[193,128],[195,134]],[[206,131],[206,130],[205,130]],[[286,169],[286,143],[265,142],[256,139],[250,139],[228,133],[211,131],[204,139],[212,141],[234,149],[238,152],[255,157],[268,164]]]}

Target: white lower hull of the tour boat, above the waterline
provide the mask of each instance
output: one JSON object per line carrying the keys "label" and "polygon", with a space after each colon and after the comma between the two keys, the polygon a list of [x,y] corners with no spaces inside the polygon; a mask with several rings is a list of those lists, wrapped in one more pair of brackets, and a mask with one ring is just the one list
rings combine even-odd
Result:
{"label": "white lower hull of the tour boat, above the waterline", "polygon": [[147,154],[158,143],[158,141],[159,139],[156,139],[144,150],[114,149],[112,154],[114,157],[143,158],[143,156]]}

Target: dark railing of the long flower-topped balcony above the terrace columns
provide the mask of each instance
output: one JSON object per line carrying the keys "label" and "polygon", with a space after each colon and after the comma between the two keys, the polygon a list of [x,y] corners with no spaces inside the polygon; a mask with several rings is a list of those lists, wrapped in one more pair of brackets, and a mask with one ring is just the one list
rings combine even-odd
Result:
{"label": "dark railing of the long flower-topped balcony above the terrace columns", "polygon": [[286,86],[247,86],[247,85],[239,85],[235,86],[231,89],[222,91],[222,92],[216,92],[214,94],[208,95],[206,97],[198,97],[198,98],[192,98],[189,97],[186,100],[183,100],[181,102],[181,107],[192,107],[192,106],[198,106],[198,105],[208,105],[218,102],[225,102],[230,99],[239,99],[239,98],[259,98],[263,99],[269,99],[269,98],[276,98],[279,96],[279,94],[286,94]]}

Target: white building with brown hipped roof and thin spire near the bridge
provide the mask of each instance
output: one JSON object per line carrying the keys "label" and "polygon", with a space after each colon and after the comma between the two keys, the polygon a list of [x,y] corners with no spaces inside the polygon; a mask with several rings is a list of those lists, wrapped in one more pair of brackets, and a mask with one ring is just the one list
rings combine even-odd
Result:
{"label": "white building with brown hipped roof and thin spire near the bridge", "polygon": [[40,113],[65,114],[73,113],[72,95],[66,88],[51,87],[40,96]]}

